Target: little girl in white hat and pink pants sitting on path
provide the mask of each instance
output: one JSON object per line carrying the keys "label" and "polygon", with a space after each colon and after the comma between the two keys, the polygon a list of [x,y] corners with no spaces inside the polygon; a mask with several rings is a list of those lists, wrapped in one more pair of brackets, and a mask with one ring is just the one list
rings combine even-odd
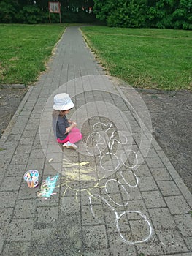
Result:
{"label": "little girl in white hat and pink pants sitting on path", "polygon": [[74,144],[82,139],[82,134],[74,121],[69,121],[66,114],[74,108],[74,103],[69,94],[57,94],[53,105],[53,131],[58,143],[66,148],[77,149]]}

